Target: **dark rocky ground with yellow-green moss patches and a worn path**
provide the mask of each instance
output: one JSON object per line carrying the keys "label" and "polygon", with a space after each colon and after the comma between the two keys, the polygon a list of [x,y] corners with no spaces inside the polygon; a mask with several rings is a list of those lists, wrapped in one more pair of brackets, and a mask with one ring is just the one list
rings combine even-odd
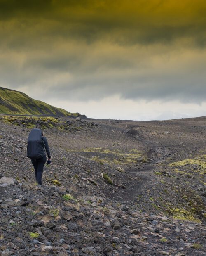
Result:
{"label": "dark rocky ground with yellow-green moss patches and a worn path", "polygon": [[[42,187],[26,157],[42,128]],[[0,116],[0,255],[205,255],[206,117]]]}

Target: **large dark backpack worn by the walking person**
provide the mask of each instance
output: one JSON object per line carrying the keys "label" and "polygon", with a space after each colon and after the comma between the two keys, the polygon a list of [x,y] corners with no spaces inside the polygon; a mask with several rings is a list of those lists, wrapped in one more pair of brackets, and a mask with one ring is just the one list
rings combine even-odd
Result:
{"label": "large dark backpack worn by the walking person", "polygon": [[27,157],[31,159],[40,159],[44,155],[42,131],[40,129],[32,129],[28,135]]}

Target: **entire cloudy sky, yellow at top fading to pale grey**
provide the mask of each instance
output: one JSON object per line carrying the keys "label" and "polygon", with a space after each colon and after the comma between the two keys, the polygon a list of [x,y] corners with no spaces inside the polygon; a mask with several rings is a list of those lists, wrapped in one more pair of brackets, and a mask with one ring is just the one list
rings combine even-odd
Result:
{"label": "entire cloudy sky, yellow at top fading to pale grey", "polygon": [[0,86],[99,119],[206,115],[205,0],[0,0]]}

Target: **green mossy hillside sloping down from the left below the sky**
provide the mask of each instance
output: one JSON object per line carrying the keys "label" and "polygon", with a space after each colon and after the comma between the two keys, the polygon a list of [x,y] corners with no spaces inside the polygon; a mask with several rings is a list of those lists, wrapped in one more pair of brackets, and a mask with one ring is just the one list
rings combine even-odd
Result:
{"label": "green mossy hillside sloping down from the left below the sky", "polygon": [[23,92],[0,87],[0,114],[81,116],[34,100]]}

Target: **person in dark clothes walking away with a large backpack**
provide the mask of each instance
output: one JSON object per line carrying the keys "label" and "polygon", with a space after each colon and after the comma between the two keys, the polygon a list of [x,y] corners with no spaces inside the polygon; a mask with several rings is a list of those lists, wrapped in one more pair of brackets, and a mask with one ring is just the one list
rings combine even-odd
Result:
{"label": "person in dark clothes walking away with a large backpack", "polygon": [[[47,156],[48,161],[47,161]],[[31,162],[35,169],[35,177],[38,183],[38,186],[42,185],[42,174],[44,164],[47,161],[47,164],[51,163],[51,155],[49,151],[49,145],[47,138],[44,137],[42,130],[32,129],[28,136],[27,142],[27,157],[31,159]]]}

